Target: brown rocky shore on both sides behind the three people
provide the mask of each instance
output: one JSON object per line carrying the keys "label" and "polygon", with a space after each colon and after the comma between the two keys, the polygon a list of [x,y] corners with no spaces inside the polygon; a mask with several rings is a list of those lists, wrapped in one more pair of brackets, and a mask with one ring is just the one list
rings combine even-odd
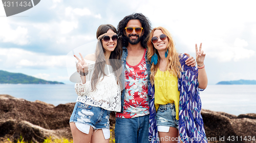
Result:
{"label": "brown rocky shore on both sides behind the three people", "polygon": [[[69,119],[74,105],[54,106],[0,95],[0,142],[7,138],[14,141],[20,135],[24,141],[33,142],[43,142],[50,136],[71,139]],[[208,142],[256,142],[256,113],[234,116],[202,109],[201,115]],[[110,124],[113,129],[114,113],[111,113]]]}

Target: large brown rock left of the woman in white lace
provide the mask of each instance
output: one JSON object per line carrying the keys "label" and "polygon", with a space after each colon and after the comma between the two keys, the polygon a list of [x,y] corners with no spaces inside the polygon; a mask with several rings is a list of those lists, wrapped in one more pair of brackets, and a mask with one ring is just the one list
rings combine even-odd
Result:
{"label": "large brown rock left of the woman in white lace", "polygon": [[9,95],[0,96],[0,142],[6,138],[43,142],[46,137],[72,138],[69,119],[75,103],[30,102]]}

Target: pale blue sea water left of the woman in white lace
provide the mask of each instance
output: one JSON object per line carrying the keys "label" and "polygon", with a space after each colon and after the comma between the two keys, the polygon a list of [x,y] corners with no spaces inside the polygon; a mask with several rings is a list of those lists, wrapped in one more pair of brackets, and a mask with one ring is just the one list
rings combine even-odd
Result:
{"label": "pale blue sea water left of the woman in white lace", "polygon": [[57,106],[76,102],[74,84],[0,84],[0,94],[28,101],[40,100]]}

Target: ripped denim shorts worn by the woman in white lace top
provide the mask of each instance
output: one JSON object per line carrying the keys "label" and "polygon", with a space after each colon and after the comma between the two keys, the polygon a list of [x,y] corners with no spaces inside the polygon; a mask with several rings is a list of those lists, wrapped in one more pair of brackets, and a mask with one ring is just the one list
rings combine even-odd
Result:
{"label": "ripped denim shorts worn by the woman in white lace top", "polygon": [[[94,129],[102,129],[104,133],[110,135],[110,111],[100,107],[76,102],[69,122],[74,122],[78,130],[89,133],[90,126]],[[88,126],[89,125],[89,126]],[[107,135],[108,136],[108,135]]]}

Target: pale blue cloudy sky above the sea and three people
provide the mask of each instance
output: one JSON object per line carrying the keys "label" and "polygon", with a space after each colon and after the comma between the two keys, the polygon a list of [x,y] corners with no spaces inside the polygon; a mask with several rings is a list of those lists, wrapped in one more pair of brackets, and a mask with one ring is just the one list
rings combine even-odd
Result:
{"label": "pale blue cloudy sky above the sea and three people", "polygon": [[142,13],[153,28],[163,26],[172,34],[178,52],[196,58],[195,44],[202,43],[208,84],[256,80],[254,3],[43,0],[10,17],[0,3],[0,70],[72,84],[75,68],[67,66],[75,65],[72,50],[91,53],[99,25],[116,27],[126,15]]}

